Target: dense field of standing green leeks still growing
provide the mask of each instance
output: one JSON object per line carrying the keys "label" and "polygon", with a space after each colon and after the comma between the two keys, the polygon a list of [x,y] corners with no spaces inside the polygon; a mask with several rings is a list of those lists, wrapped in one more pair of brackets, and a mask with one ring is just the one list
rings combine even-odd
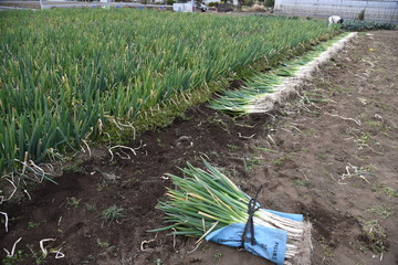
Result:
{"label": "dense field of standing green leeks still growing", "polygon": [[[316,21],[133,9],[0,17],[0,173],[74,150],[107,117],[134,118],[259,60],[335,32]],[[28,156],[27,156],[28,155]]]}

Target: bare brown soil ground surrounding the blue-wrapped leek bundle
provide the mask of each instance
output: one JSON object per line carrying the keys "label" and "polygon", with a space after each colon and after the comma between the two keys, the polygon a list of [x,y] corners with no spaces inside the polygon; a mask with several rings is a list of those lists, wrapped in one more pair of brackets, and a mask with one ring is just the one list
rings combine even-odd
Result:
{"label": "bare brown soil ground surrounding the blue-wrapped leek bundle", "polygon": [[[10,221],[0,248],[22,237],[14,264],[271,264],[213,243],[191,253],[192,239],[146,232],[163,226],[164,173],[203,157],[249,194],[263,184],[262,206],[304,214],[313,264],[398,264],[397,42],[397,31],[359,34],[274,113],[231,117],[205,104],[132,141],[136,155],[119,150],[130,159],[97,151],[75,161],[57,186],[1,205]],[[107,222],[114,205],[123,218]],[[44,258],[43,239],[65,257]]]}

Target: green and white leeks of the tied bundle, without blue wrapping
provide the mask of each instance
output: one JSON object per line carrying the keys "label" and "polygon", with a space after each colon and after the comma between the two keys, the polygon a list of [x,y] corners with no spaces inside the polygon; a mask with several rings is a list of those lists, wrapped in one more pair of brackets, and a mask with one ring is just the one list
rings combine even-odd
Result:
{"label": "green and white leeks of the tied bundle, without blue wrapping", "polygon": [[[159,202],[158,209],[165,212],[165,222],[170,225],[150,230],[158,232],[172,230],[172,235],[199,237],[233,223],[247,223],[250,198],[230,179],[209,162],[203,161],[206,170],[187,162],[180,169],[185,178],[167,173],[176,189],[167,189],[167,200]],[[302,247],[305,222],[293,221],[273,214],[264,209],[254,213],[254,225],[262,225],[287,232],[285,259],[293,258]]]}

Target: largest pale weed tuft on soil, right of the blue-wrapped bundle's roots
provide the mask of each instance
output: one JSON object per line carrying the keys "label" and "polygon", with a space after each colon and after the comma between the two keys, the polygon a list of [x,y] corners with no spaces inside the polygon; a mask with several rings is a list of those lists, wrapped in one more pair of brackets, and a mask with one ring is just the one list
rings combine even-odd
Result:
{"label": "largest pale weed tuft on soil, right of the blue-wrapped bundle's roots", "polygon": [[369,243],[369,247],[375,253],[387,252],[387,234],[385,229],[379,224],[377,220],[370,220],[363,223],[363,231],[366,235],[366,240]]}

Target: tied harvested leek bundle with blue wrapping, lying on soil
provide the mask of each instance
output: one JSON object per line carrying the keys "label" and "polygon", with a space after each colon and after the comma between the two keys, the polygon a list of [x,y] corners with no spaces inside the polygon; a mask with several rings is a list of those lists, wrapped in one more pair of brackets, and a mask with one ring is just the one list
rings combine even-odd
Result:
{"label": "tied harvested leek bundle with blue wrapping, lying on soil", "polygon": [[[171,234],[174,235],[199,237],[198,244],[205,237],[221,244],[232,242],[232,244],[226,245],[243,246],[255,255],[271,261],[275,259],[274,262],[277,264],[283,264],[285,259],[292,262],[295,258],[301,258],[301,264],[308,264],[310,255],[305,257],[304,253],[310,254],[311,224],[303,222],[301,214],[287,214],[260,209],[255,199],[250,199],[209,162],[203,161],[203,163],[207,170],[196,168],[187,162],[188,167],[181,169],[185,178],[167,174],[177,189],[168,189],[168,200],[159,202],[157,208],[165,212],[166,223],[171,223],[171,225],[149,232],[172,229]],[[248,205],[251,205],[254,211],[248,211]],[[251,214],[254,225],[248,231],[249,236],[247,237],[247,223],[250,223]],[[244,226],[244,224],[247,225]],[[262,233],[263,230],[264,233]],[[235,234],[229,234],[228,239],[220,239],[220,235],[226,234],[226,232],[227,234],[231,233],[231,231],[234,231]],[[276,254],[274,245],[269,243],[273,242],[271,234],[283,237],[282,241],[275,243],[276,248],[279,247]],[[271,251],[266,250],[266,244],[262,244],[264,239],[261,237],[263,235],[269,237],[265,241],[269,243]],[[242,239],[242,242],[240,239]],[[256,245],[256,242],[260,242],[259,246],[253,246]],[[259,247],[265,250],[259,251]],[[261,254],[261,252],[264,252],[264,254]]]}

